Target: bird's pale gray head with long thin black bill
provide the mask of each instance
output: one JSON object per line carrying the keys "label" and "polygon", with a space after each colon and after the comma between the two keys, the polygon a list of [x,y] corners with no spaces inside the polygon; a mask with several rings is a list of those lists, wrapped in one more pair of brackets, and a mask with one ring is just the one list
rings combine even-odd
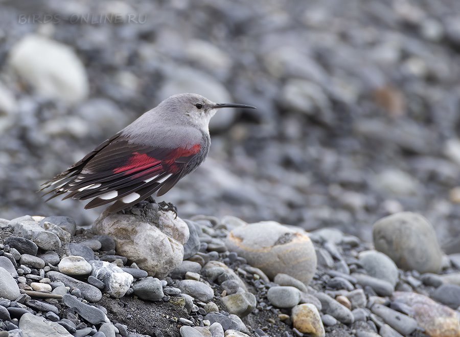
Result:
{"label": "bird's pale gray head with long thin black bill", "polygon": [[246,104],[215,103],[198,94],[178,94],[165,99],[157,109],[164,111],[169,118],[176,121],[192,124],[200,129],[208,129],[209,121],[216,114],[217,109],[223,107],[256,108]]}

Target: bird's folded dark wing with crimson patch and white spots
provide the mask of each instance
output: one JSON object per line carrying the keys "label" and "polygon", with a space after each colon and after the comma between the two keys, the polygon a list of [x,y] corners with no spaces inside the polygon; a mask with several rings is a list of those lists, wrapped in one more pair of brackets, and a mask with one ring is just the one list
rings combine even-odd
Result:
{"label": "bird's folded dark wing with crimson patch and white spots", "polygon": [[[168,149],[131,143],[118,134],[90,152],[81,161],[44,184],[53,187],[52,197],[91,200],[85,208],[116,201],[116,212],[146,199],[163,195],[187,174],[187,166],[200,153],[201,145]],[[49,193],[50,193],[49,192]]]}

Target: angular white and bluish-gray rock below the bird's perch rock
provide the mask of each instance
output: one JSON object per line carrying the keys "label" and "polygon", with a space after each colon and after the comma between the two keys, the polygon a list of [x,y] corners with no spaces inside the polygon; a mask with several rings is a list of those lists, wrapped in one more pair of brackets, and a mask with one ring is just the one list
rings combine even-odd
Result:
{"label": "angular white and bluish-gray rock below the bird's perch rock", "polygon": [[131,274],[125,273],[120,267],[105,261],[91,261],[90,264],[93,267],[91,276],[104,282],[105,291],[110,296],[114,298],[125,296],[133,281]]}

